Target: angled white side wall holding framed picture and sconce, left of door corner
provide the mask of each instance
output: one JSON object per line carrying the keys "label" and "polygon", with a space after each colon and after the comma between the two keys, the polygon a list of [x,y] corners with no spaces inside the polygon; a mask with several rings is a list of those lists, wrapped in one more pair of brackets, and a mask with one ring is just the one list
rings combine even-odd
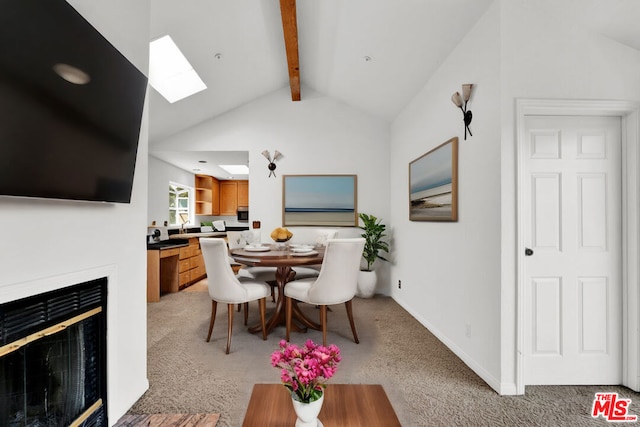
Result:
{"label": "angled white side wall holding framed picture and sconce, left of door corner", "polygon": [[[492,387],[500,383],[500,51],[492,5],[391,127],[393,297]],[[451,102],[473,83],[473,137]],[[459,137],[458,221],[409,221],[408,165]],[[402,280],[402,288],[397,281]]]}

